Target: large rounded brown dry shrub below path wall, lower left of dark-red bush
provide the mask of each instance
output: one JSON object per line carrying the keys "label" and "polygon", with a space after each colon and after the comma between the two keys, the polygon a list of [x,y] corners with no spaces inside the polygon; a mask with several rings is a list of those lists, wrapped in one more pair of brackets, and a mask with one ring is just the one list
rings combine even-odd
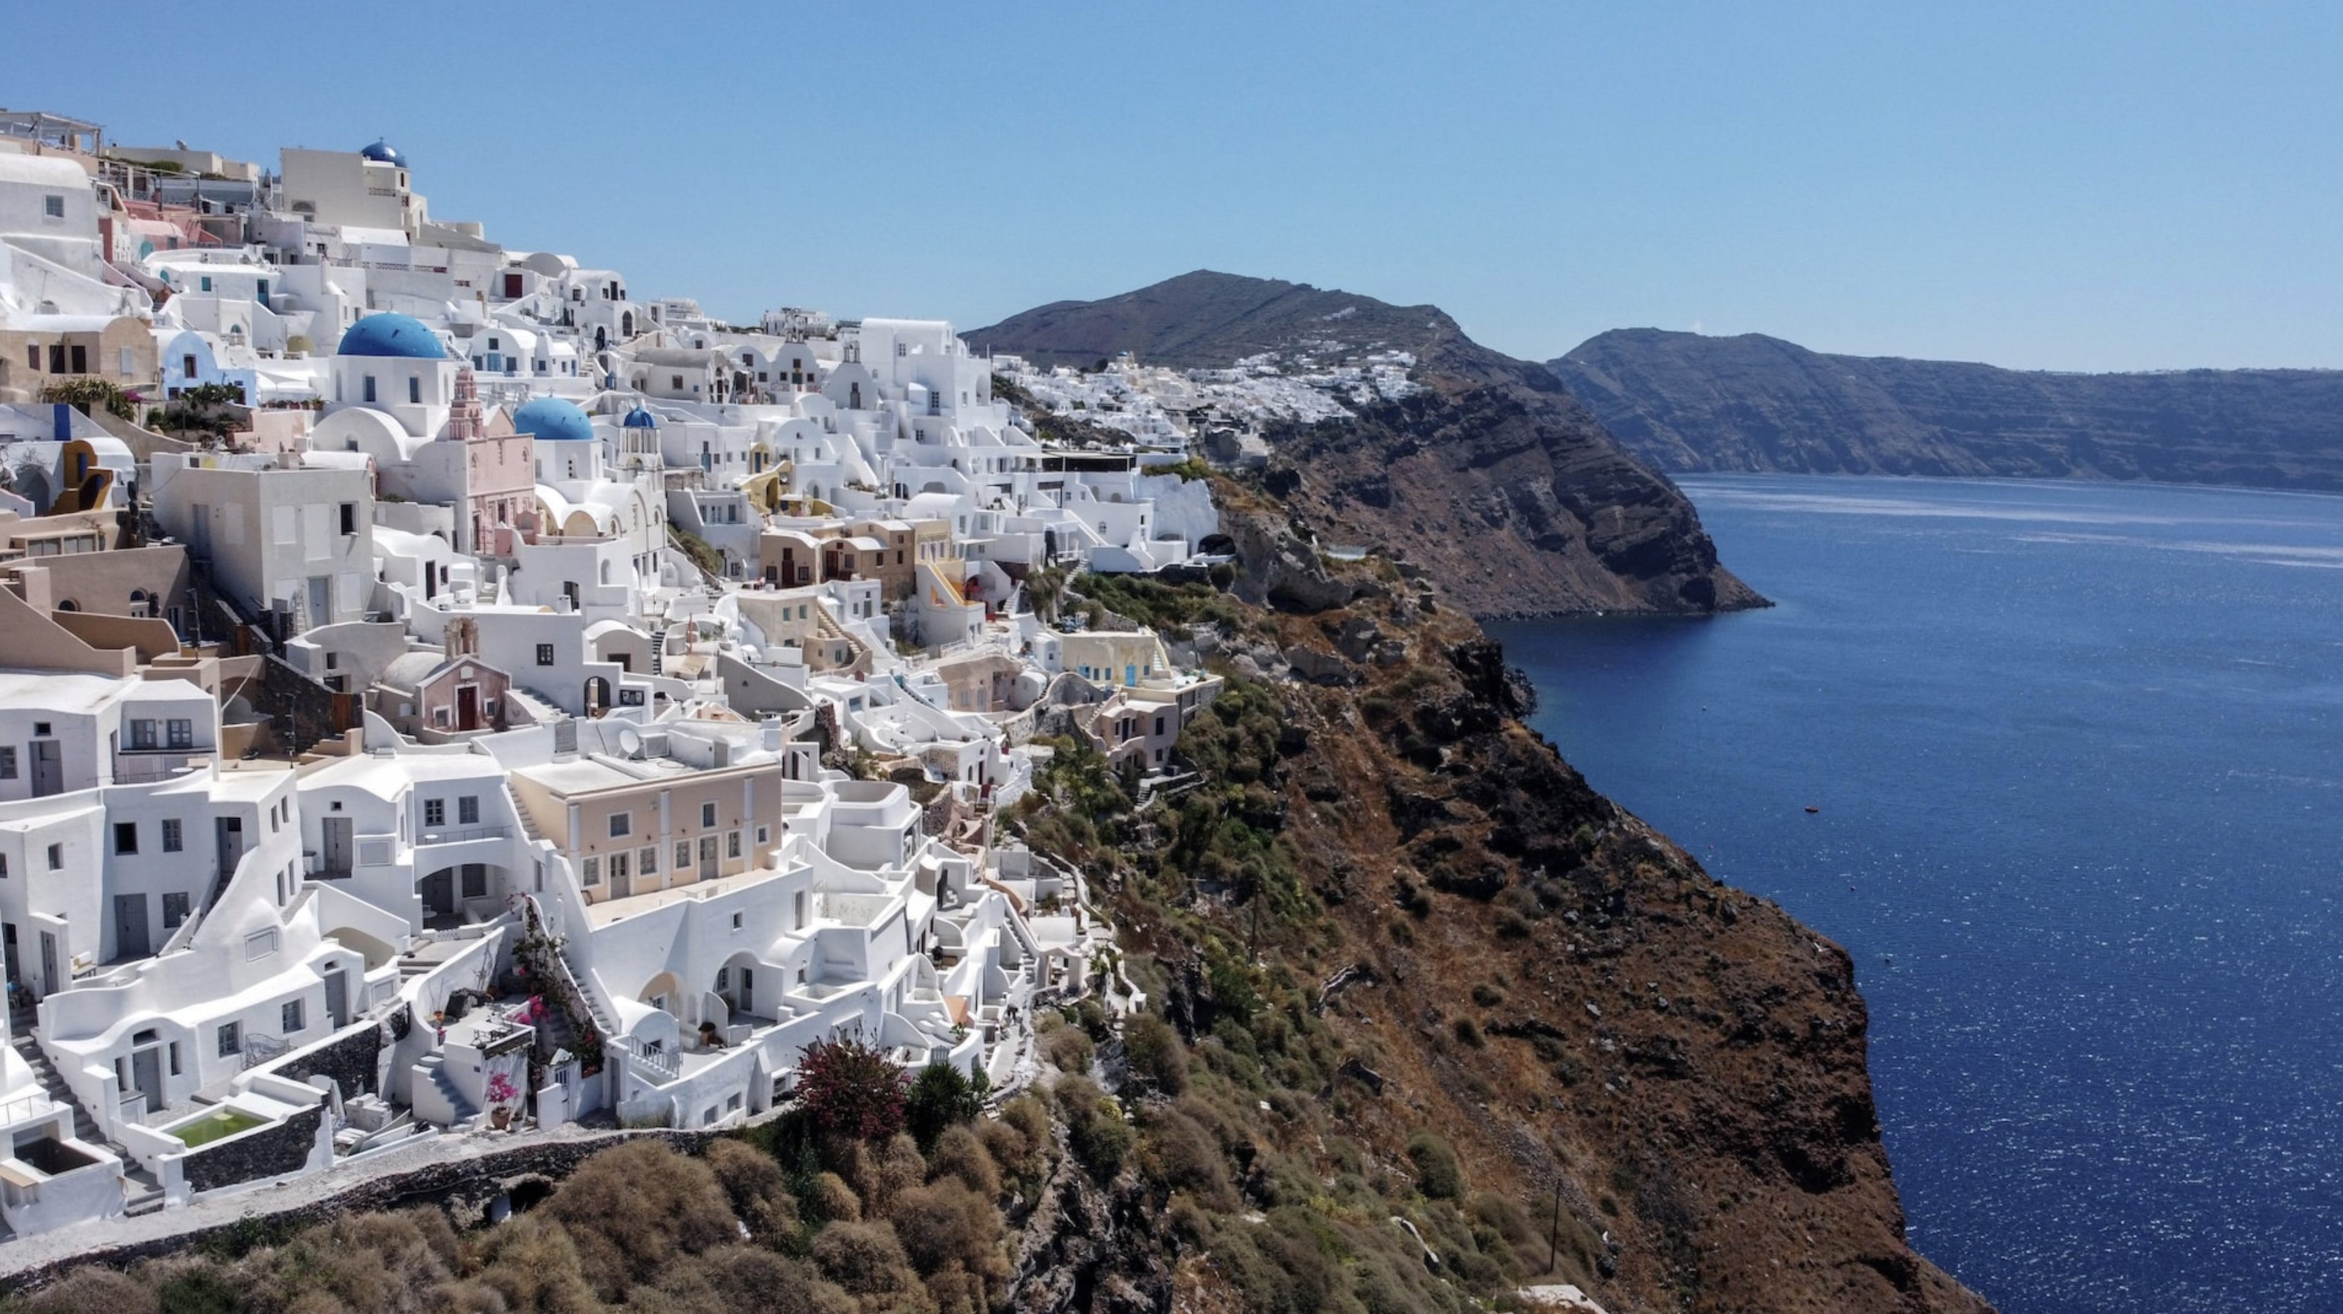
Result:
{"label": "large rounded brown dry shrub below path wall, lower left of dark-red bush", "polygon": [[740,1239],[708,1164],[661,1141],[630,1141],[579,1164],[544,1211],[569,1230],[586,1281],[621,1300],[677,1255]]}

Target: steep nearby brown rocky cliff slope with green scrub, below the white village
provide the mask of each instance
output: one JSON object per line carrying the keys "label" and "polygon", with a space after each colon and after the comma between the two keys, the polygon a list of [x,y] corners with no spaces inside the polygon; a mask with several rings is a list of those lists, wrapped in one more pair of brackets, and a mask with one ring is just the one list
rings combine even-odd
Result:
{"label": "steep nearby brown rocky cliff slope with green scrub, below the white village", "polygon": [[1181,742],[1200,787],[1057,780],[1029,822],[1113,892],[1193,1070],[1181,1094],[1118,1066],[1136,1169],[1085,1211],[1111,1237],[1085,1288],[1443,1307],[1389,1286],[1429,1272],[1612,1314],[1982,1312],[1905,1241],[1846,951],[1589,789],[1418,572],[1321,562],[1223,494],[1268,609],[1087,586],[1230,677]]}

